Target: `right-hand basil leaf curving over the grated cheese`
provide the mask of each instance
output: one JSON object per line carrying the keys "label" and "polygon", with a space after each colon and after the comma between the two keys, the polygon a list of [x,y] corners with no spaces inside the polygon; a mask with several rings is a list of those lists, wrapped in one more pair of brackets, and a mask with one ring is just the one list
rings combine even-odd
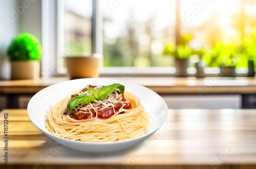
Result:
{"label": "right-hand basil leaf curving over the grated cheese", "polygon": [[104,86],[98,90],[98,100],[103,100],[104,98],[108,97],[115,91],[115,89],[119,89],[120,92],[124,94],[124,86],[119,83],[114,83],[109,86]]}

